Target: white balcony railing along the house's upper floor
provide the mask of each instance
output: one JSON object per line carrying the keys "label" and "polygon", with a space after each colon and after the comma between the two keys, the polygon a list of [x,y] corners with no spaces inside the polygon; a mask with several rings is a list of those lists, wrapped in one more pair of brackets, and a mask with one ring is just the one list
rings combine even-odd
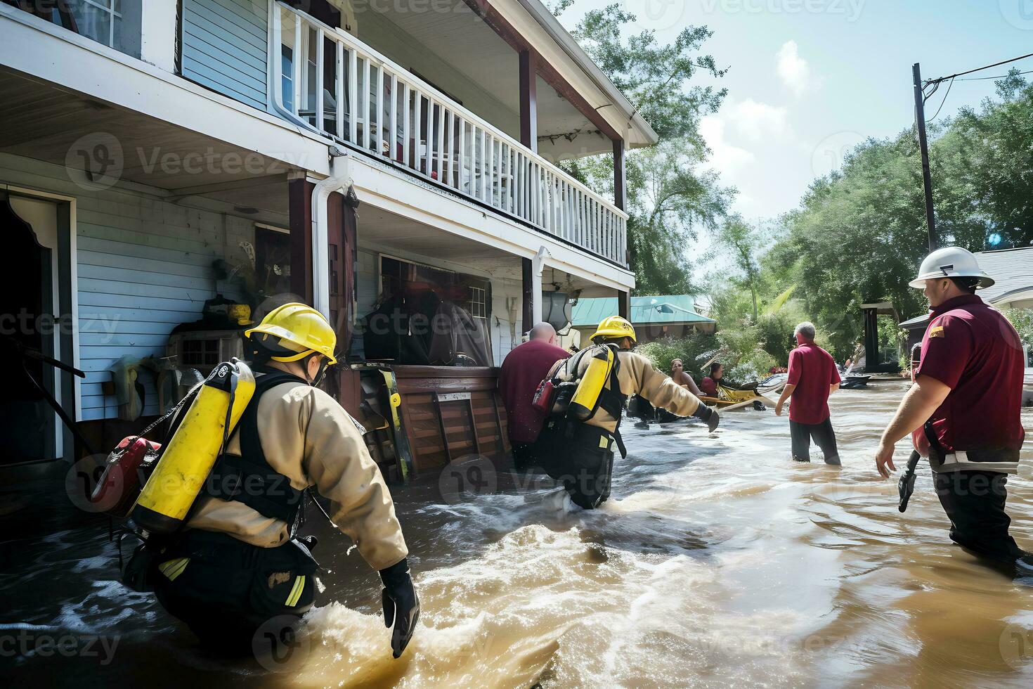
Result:
{"label": "white balcony railing along the house's upper floor", "polygon": [[270,69],[284,111],[626,264],[627,215],[613,203],[350,34],[280,2],[273,19],[280,54],[271,56]]}

